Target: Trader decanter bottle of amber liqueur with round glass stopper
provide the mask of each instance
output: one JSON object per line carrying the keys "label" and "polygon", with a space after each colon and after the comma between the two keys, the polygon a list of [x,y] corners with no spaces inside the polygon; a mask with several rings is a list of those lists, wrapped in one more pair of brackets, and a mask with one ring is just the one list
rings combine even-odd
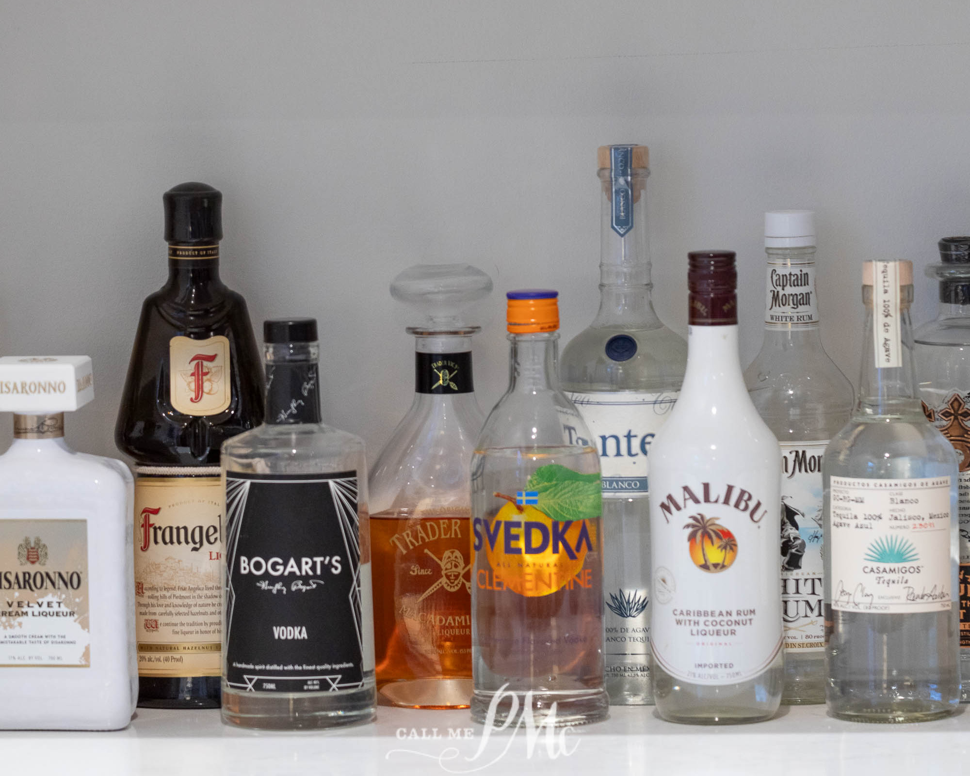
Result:
{"label": "Trader decanter bottle of amber liqueur with round glass stopper", "polygon": [[469,466],[484,416],[471,375],[470,304],[492,279],[419,265],[391,296],[415,308],[414,402],[370,477],[377,689],[391,703],[467,708],[471,697]]}

